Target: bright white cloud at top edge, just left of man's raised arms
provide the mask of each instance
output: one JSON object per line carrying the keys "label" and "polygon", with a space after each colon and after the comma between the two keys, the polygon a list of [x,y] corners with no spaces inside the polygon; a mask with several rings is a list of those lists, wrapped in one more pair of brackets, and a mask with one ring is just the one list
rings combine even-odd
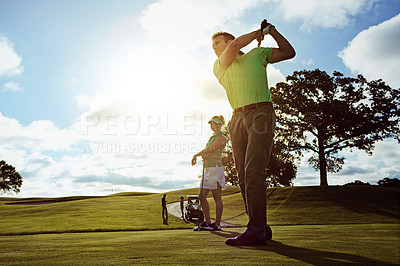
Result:
{"label": "bright white cloud at top edge, just left of man's raised arms", "polygon": [[235,19],[259,0],[160,0],[143,11],[142,27],[151,38],[170,47],[192,51],[211,45],[211,35],[230,30]]}

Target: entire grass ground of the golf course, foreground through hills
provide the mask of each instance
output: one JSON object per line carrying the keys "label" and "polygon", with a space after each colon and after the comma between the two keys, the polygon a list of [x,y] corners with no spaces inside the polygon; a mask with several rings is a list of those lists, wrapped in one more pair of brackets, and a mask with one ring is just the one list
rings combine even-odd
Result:
{"label": "entire grass ground of the golf course, foreground through hills", "polygon": [[[174,202],[197,192],[166,194]],[[244,226],[239,190],[224,194],[223,220]],[[269,189],[274,241],[242,248],[224,241],[245,228],[193,232],[193,224],[171,216],[164,225],[161,197],[0,198],[0,264],[400,264],[399,188]],[[38,201],[56,203],[10,204]]]}

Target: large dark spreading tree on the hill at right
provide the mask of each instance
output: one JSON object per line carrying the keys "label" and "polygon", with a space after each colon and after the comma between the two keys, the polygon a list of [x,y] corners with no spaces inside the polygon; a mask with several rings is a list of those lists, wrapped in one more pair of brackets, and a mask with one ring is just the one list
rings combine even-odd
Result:
{"label": "large dark spreading tree on the hill at right", "polygon": [[271,88],[271,94],[278,142],[298,155],[313,153],[308,162],[319,169],[321,186],[328,185],[327,172],[342,169],[345,158],[339,151],[372,155],[377,141],[394,137],[400,142],[400,90],[382,80],[302,70]]}

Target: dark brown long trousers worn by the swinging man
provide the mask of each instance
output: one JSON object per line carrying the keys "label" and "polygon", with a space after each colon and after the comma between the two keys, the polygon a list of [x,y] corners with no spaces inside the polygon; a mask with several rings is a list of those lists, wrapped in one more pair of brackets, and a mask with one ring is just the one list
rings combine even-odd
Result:
{"label": "dark brown long trousers worn by the swinging man", "polygon": [[234,113],[228,125],[235,166],[246,212],[246,233],[265,237],[267,224],[266,167],[275,131],[276,115],[272,105]]}

